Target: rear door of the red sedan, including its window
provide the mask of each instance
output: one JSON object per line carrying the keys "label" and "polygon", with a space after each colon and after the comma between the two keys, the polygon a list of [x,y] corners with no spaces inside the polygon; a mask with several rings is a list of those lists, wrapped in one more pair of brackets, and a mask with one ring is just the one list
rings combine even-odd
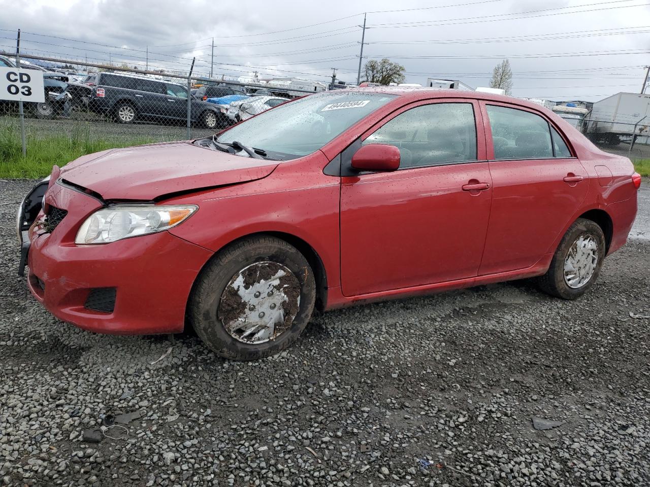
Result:
{"label": "rear door of the red sedan, including its window", "polygon": [[492,211],[480,275],[525,269],[547,253],[587,193],[587,173],[549,119],[482,102]]}

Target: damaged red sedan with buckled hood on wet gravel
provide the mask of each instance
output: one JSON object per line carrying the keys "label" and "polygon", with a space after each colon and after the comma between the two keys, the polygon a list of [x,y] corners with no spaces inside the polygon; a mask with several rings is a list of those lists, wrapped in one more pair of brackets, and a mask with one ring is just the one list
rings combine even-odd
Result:
{"label": "damaged red sedan with buckled hood on wet gravel", "polygon": [[361,88],[55,167],[18,225],[29,288],[57,318],[190,324],[250,360],[314,308],[533,276],[575,299],[625,243],[639,186],[629,159],[526,101]]}

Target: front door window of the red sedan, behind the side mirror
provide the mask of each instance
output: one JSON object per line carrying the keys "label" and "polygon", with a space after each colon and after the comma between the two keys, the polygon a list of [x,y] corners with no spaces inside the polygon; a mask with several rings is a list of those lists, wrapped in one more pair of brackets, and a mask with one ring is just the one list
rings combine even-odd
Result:
{"label": "front door window of the red sedan, behind the side mirror", "polygon": [[476,160],[476,123],[471,103],[434,103],[411,108],[363,141],[400,149],[400,168]]}

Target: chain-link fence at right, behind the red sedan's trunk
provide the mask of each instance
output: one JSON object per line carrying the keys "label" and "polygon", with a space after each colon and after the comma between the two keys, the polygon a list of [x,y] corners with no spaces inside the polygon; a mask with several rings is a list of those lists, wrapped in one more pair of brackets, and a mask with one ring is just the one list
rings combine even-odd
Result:
{"label": "chain-link fence at right, behind the red sedan's trunk", "polygon": [[634,123],[584,118],[575,126],[603,151],[632,159],[650,158],[650,118]]}

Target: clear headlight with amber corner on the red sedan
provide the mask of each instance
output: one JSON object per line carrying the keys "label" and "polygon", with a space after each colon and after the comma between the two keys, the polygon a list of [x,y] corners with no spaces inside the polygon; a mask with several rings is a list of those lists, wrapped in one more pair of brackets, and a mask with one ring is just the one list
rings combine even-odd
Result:
{"label": "clear headlight with amber corner on the red sedan", "polygon": [[83,222],[75,243],[109,243],[168,230],[198,210],[195,205],[115,205]]}

